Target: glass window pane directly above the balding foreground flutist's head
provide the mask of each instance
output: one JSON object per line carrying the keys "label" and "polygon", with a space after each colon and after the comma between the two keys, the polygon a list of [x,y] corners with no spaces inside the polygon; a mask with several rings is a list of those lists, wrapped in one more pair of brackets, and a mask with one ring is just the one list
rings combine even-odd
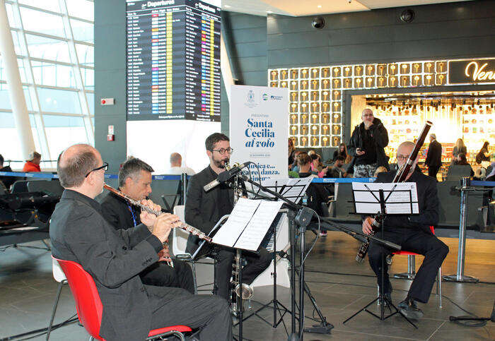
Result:
{"label": "glass window pane directly above the balding foreground flutist's head", "polygon": [[69,145],[88,143],[82,117],[43,115],[50,155],[57,158]]}

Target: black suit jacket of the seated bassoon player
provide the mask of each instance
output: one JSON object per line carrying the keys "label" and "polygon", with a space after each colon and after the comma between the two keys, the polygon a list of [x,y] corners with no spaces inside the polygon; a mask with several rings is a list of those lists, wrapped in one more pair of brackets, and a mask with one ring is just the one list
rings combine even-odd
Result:
{"label": "black suit jacket of the seated bassoon player", "polygon": [[[375,182],[392,182],[395,172],[378,173]],[[427,177],[421,172],[414,171],[406,182],[415,182],[418,191],[419,215],[388,215],[383,224],[384,229],[395,229],[397,227],[422,229],[431,234],[430,226],[438,223],[438,191],[436,179]]]}

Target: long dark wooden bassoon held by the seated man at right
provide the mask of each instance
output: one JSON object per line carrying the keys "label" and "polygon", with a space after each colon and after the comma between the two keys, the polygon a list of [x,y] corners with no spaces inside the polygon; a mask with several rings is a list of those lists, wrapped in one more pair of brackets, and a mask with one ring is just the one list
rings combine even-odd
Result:
{"label": "long dark wooden bassoon held by the seated man at right", "polygon": [[[423,131],[421,131],[421,134],[419,135],[416,145],[414,145],[414,149],[412,150],[411,155],[409,155],[407,162],[401,167],[401,169],[397,171],[392,182],[405,181],[407,174],[409,174],[409,171],[411,170],[414,160],[416,160],[419,154],[419,150],[421,150],[421,147],[423,146],[424,139],[426,138],[426,135],[428,135],[431,126],[433,126],[433,123],[431,123],[430,121],[426,121],[426,124],[424,124],[423,127]],[[375,221],[373,222],[373,232],[371,233],[371,236],[374,236],[376,234],[376,232],[381,228],[382,223],[383,213],[378,213],[377,215],[375,215]],[[363,244],[361,244],[361,247],[358,250],[358,254],[356,255],[356,262],[363,263],[364,257],[366,256],[366,253],[368,253],[369,247],[370,239],[368,238]]]}

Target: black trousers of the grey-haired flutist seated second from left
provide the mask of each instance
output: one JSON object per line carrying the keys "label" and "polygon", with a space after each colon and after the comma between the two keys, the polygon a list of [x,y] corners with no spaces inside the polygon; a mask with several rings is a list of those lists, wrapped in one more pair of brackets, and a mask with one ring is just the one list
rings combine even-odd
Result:
{"label": "black trousers of the grey-haired flutist seated second from left", "polygon": [[184,261],[174,260],[173,268],[165,262],[156,262],[139,275],[145,285],[182,288],[194,294],[192,270]]}

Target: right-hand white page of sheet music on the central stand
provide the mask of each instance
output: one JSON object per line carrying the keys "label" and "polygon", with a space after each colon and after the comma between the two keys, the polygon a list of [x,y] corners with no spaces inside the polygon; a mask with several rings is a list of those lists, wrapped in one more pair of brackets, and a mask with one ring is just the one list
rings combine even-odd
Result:
{"label": "right-hand white page of sheet music on the central stand", "polygon": [[283,201],[260,201],[260,206],[258,206],[255,215],[252,216],[234,247],[256,251],[283,203]]}

